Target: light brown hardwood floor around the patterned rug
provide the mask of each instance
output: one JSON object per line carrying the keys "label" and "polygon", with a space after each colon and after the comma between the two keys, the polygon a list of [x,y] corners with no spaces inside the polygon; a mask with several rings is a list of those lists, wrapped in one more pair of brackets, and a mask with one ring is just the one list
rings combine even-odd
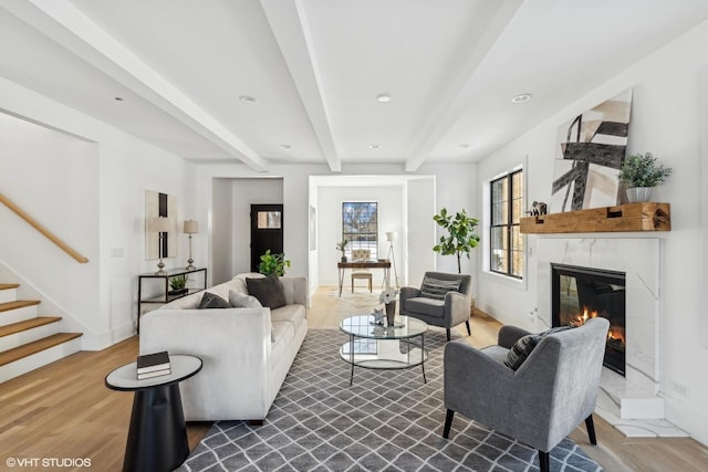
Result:
{"label": "light brown hardwood floor around the patterned rug", "polygon": [[[309,312],[311,328],[336,328],[341,318],[361,313],[354,305],[327,295],[321,289]],[[477,347],[496,342],[500,324],[477,312],[471,321]],[[434,328],[437,329],[437,328]],[[458,333],[466,335],[465,327]],[[38,466],[14,470],[48,471],[42,459],[91,460],[91,468],[59,468],[62,471],[119,471],[133,405],[133,395],[110,390],[106,374],[135,360],[138,340],[133,337],[105,350],[81,352],[30,374],[0,384],[0,470],[10,470],[8,460],[38,459]],[[188,423],[189,445],[194,448],[210,423]],[[441,428],[441,424],[440,424]],[[598,445],[587,441],[584,428],[571,434],[589,455],[608,472],[614,471],[705,471],[708,450],[691,439],[625,438],[596,418]]]}

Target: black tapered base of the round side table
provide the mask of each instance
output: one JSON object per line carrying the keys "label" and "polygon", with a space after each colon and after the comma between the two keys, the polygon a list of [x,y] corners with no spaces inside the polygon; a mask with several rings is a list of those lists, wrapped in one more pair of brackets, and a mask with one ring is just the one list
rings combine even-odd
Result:
{"label": "black tapered base of the round side table", "polygon": [[123,471],[173,471],[188,455],[179,384],[136,390]]}

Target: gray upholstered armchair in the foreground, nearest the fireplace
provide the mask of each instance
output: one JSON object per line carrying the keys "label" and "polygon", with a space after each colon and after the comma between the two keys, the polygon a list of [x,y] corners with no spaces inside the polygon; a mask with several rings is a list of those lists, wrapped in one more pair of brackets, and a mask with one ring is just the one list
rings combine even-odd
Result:
{"label": "gray upholstered armchair in the foreground, nearest the fireplace", "polygon": [[455,412],[481,422],[539,451],[541,472],[549,451],[583,420],[596,444],[593,410],[610,322],[597,317],[583,326],[543,337],[518,370],[503,363],[528,332],[503,326],[498,345],[476,349],[462,340],[445,346],[444,438]]}

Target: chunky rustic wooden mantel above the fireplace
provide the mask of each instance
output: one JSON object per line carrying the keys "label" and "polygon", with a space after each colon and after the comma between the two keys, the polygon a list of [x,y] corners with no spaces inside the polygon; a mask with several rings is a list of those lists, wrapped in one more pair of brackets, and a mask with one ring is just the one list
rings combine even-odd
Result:
{"label": "chunky rustic wooden mantel above the fireplace", "polygon": [[522,233],[670,231],[668,203],[627,203],[521,218]]}

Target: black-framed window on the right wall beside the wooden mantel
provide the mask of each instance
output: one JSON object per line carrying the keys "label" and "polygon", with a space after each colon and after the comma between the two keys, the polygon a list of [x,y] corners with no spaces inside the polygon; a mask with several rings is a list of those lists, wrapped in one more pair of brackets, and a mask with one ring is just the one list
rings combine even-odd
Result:
{"label": "black-framed window on the right wall beside the wooden mantel", "polygon": [[523,277],[523,238],[519,220],[523,209],[523,174],[516,170],[490,183],[491,224],[489,270]]}

